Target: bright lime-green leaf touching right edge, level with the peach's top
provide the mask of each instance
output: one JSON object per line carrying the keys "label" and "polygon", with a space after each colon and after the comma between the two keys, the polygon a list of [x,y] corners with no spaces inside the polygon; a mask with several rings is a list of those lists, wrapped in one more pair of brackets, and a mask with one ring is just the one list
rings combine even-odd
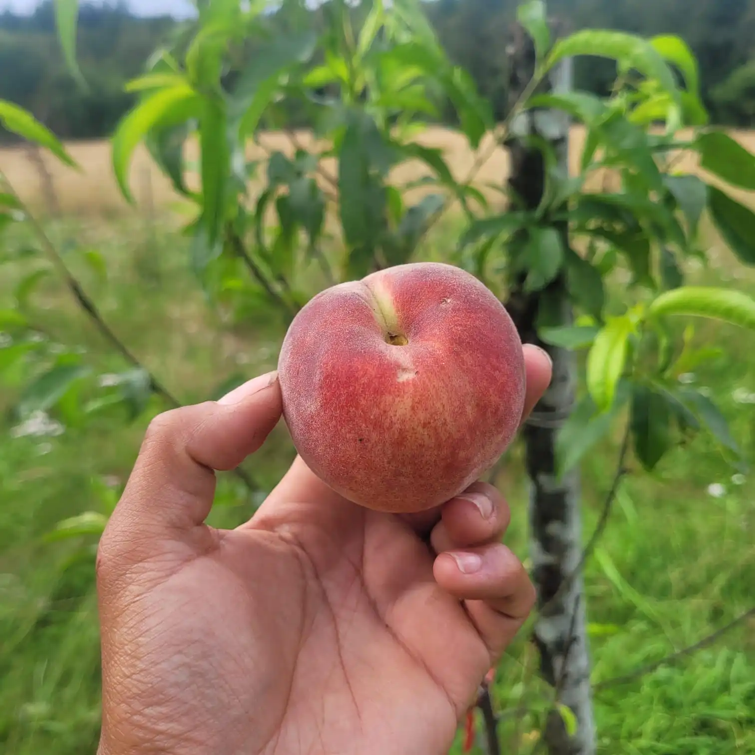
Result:
{"label": "bright lime-green leaf touching right edge, level with the peach's top", "polygon": [[708,317],[755,330],[755,299],[732,288],[675,288],[653,300],[648,313]]}

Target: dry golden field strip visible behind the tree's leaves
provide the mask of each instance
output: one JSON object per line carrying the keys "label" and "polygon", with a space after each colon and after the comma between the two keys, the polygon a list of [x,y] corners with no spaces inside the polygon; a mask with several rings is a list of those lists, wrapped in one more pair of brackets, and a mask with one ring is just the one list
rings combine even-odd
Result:
{"label": "dry golden field strip visible behind the tree's leaves", "polygon": [[[755,149],[755,132],[740,131],[733,134],[735,138]],[[297,132],[295,139],[304,146],[313,146],[313,139],[305,131]],[[484,189],[487,184],[501,185],[507,173],[507,155],[504,149],[490,150],[489,138],[484,140],[478,152],[469,149],[466,141],[458,134],[444,128],[430,128],[421,137],[427,146],[439,147],[456,177],[467,177],[470,168],[481,154],[491,153],[477,174],[478,185]],[[572,130],[571,155],[572,169],[584,143],[584,129]],[[291,139],[282,133],[263,134],[260,145],[251,145],[250,159],[264,159],[266,153],[280,149],[284,153],[292,152]],[[108,217],[113,214],[131,213],[119,194],[112,176],[110,165],[110,146],[106,140],[69,143],[69,152],[81,166],[81,171],[74,171],[60,165],[53,157],[44,156],[45,167],[51,177],[51,184],[57,198],[57,205],[62,214],[79,216]],[[190,145],[186,150],[190,161],[196,160],[196,146]],[[335,174],[334,164],[323,162],[325,171]],[[694,170],[690,160],[683,160],[679,167]],[[29,150],[23,147],[0,149],[0,170],[11,180],[18,193],[32,206],[39,206],[44,200],[42,172],[39,164],[30,159]],[[422,168],[414,165],[402,165],[396,171],[396,180],[403,182],[418,177]],[[49,186],[49,184],[48,184]],[[137,211],[170,210],[175,206],[177,195],[171,189],[168,180],[158,171],[146,150],[140,147],[134,156],[131,168],[131,187],[137,200]]]}

